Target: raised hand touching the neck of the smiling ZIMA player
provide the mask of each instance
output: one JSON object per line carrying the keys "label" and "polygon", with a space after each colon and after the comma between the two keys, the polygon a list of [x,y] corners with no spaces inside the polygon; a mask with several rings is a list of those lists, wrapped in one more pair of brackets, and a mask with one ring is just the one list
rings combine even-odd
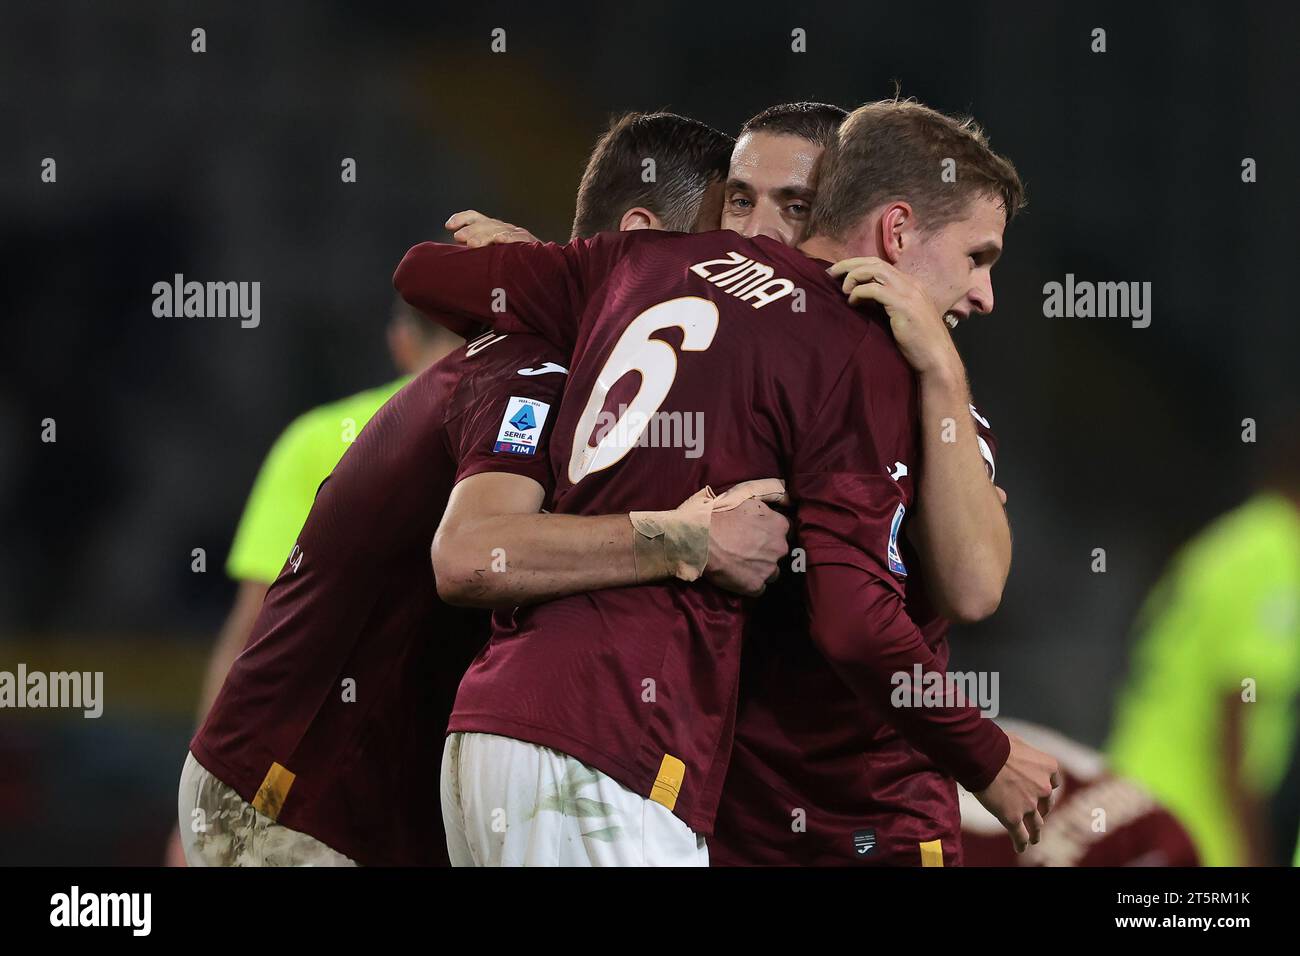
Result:
{"label": "raised hand touching the neck of the smiling ZIMA player", "polygon": [[935,300],[913,276],[875,256],[842,259],[827,272],[844,278],[850,306],[878,302],[904,358],[919,375],[961,369],[961,356]]}

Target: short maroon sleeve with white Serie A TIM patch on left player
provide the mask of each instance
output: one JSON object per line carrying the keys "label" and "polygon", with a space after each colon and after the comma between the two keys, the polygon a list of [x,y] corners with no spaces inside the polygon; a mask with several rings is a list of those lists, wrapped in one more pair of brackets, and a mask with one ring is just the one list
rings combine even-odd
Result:
{"label": "short maroon sleeve with white Serie A TIM patch on left player", "polygon": [[[533,372],[558,358],[558,352],[540,350],[525,363]],[[551,475],[547,444],[560,395],[568,376],[563,372],[545,375],[476,375],[463,388],[476,393],[465,402],[464,410],[447,423],[447,434],[456,454],[456,481],[481,472],[523,475],[540,484],[550,498],[555,480]],[[537,434],[528,441],[514,441],[507,429],[517,432],[511,419],[528,405],[532,410]],[[525,429],[525,434],[528,431]]]}

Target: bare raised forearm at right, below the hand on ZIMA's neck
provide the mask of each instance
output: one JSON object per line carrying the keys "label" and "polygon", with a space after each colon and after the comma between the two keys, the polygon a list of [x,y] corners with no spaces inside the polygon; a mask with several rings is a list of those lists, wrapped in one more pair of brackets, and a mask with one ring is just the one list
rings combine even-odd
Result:
{"label": "bare raised forearm at right, below the hand on ZIMA's neck", "polygon": [[961,360],[922,372],[920,507],[915,544],[940,610],[971,623],[1002,600],[1011,568],[1011,529],[979,453]]}

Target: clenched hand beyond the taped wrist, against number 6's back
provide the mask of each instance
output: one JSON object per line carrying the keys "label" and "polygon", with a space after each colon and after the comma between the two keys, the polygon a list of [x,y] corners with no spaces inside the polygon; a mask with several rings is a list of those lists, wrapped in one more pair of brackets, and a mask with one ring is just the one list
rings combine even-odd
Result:
{"label": "clenched hand beyond the taped wrist, against number 6's back", "polygon": [[757,597],[776,580],[776,562],[789,546],[790,523],[758,498],[714,511],[708,523],[708,563],[705,578],[719,588]]}

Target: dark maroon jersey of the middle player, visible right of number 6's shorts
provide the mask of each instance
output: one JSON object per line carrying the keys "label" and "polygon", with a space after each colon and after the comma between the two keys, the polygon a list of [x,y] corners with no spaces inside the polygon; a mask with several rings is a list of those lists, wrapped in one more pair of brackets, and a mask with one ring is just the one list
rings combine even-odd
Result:
{"label": "dark maroon jersey of the middle player, visible right of number 6's shorts", "polygon": [[[997,440],[971,412],[993,479]],[[905,557],[907,614],[936,667],[946,667],[949,623],[932,609],[910,546]],[[736,744],[710,864],[961,865],[953,778],[898,732],[892,714],[858,700],[816,650],[798,575],[783,574],[745,632]]]}

